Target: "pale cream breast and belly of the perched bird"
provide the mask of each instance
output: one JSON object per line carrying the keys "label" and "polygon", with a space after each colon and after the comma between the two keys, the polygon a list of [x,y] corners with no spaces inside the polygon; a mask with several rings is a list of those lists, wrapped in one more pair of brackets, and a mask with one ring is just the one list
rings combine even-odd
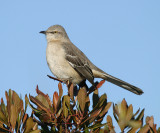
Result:
{"label": "pale cream breast and belly of the perched bird", "polygon": [[66,60],[65,50],[60,44],[51,43],[47,45],[46,59],[51,72],[57,78],[71,80],[75,84],[83,80]]}

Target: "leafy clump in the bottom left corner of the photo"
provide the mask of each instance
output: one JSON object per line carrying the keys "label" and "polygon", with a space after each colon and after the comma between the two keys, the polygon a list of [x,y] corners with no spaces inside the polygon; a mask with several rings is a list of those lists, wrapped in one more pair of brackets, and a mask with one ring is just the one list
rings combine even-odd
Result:
{"label": "leafy clump in the bottom left corner of the photo", "polygon": [[1,99],[0,104],[0,132],[4,133],[38,133],[38,124],[33,118],[26,114],[27,105],[29,103],[27,96],[25,97],[25,108],[23,100],[19,98],[15,91],[9,90],[5,93],[7,105]]}

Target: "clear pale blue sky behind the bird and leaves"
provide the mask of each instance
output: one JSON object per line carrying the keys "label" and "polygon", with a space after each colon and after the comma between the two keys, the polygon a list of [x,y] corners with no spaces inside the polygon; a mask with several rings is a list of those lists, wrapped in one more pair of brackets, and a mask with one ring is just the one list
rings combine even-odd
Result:
{"label": "clear pale blue sky behind the bird and leaves", "polygon": [[9,88],[35,95],[37,84],[52,97],[58,82],[46,76],[52,74],[39,31],[60,24],[94,64],[144,91],[137,96],[106,82],[101,94],[115,103],[125,98],[134,111],[145,108],[159,125],[159,0],[1,1],[0,19],[0,97]]}

